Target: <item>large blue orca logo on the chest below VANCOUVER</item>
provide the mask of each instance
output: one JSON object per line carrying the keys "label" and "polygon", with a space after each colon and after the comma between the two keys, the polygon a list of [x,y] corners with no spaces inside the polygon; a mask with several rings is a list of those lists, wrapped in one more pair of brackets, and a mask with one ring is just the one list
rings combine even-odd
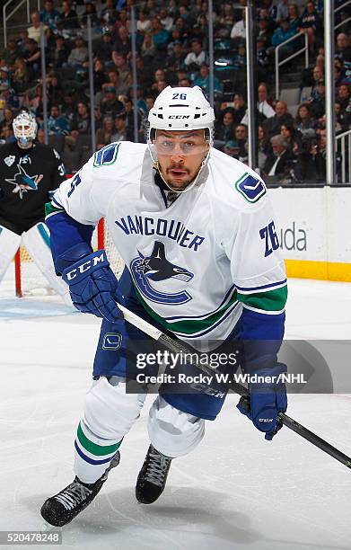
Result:
{"label": "large blue orca logo on the chest below VANCOUVER", "polygon": [[150,256],[144,256],[139,252],[139,257],[130,263],[130,271],[136,286],[143,296],[147,297],[157,304],[186,304],[192,297],[186,290],[169,294],[160,292],[154,288],[150,281],[160,281],[166,279],[180,279],[189,282],[194,277],[193,273],[185,268],[175,265],[167,260],[164,251],[164,244],[159,241],[154,242],[153,252]]}

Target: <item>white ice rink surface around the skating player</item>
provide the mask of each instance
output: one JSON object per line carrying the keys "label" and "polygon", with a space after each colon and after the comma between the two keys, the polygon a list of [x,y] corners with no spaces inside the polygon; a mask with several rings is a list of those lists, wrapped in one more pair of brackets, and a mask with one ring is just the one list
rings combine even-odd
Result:
{"label": "white ice rink surface around the skating player", "polygon": [[[99,320],[53,297],[0,288],[0,530],[40,529],[42,502],[73,479],[73,441]],[[351,334],[351,284],[291,280],[289,338]],[[136,502],[147,409],[101,495],[63,529],[63,548],[250,550],[351,547],[351,472],[284,428],[265,441],[230,395],[158,502]],[[288,413],[351,455],[350,395],[290,395]],[[33,548],[39,546],[31,546]],[[53,546],[52,546],[53,547]]]}

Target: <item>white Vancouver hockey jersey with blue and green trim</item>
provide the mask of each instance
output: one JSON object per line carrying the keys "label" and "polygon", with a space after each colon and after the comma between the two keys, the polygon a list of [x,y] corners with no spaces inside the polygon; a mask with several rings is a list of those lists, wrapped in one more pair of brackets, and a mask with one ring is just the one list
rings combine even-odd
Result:
{"label": "white Vancouver hockey jersey with blue and green trim", "polygon": [[264,182],[215,149],[167,206],[147,146],[120,142],[62,183],[53,205],[82,224],[105,217],[147,312],[180,339],[224,339],[242,307],[282,313],[285,266]]}

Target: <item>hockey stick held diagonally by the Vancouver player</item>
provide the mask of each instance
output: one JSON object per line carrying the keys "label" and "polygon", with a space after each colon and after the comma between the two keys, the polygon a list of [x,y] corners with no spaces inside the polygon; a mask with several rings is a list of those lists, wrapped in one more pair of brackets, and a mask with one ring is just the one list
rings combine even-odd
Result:
{"label": "hockey stick held diagonally by the Vancouver player", "polygon": [[[175,353],[186,353],[187,357],[189,357],[189,363],[197,367],[199,370],[202,370],[202,372],[206,373],[206,375],[212,376],[214,373],[216,373],[215,368],[210,367],[209,365],[200,363],[196,357],[197,353],[193,350],[189,350],[187,346],[185,346],[183,343],[181,343],[179,340],[174,340],[170,336],[168,336],[165,333],[162,333],[159,329],[155,328],[153,324],[148,323],[135,313],[129,311],[127,307],[120,306],[118,304],[118,308],[123,313],[124,318],[126,321],[130,324],[133,324],[136,326],[136,328],[140,329],[143,333],[147,334],[148,336],[151,336],[154,340],[158,342],[162,342],[162,344],[168,348],[168,350],[174,351]],[[231,388],[233,391],[241,397],[249,397],[248,390],[245,386],[241,386],[241,384],[233,383],[231,385]],[[302,424],[299,422],[294,421],[293,418],[290,418],[290,416],[287,416],[285,412],[278,412],[277,420],[280,421],[282,424],[284,424],[287,428],[290,430],[293,430],[295,433],[297,433],[299,436],[301,436],[303,439],[306,439],[307,441],[310,441],[312,445],[315,447],[320,448],[320,450],[327,453],[330,457],[335,458],[338,460],[338,462],[341,462],[344,466],[347,466],[347,468],[351,468],[351,457],[347,457],[347,455],[344,455],[341,451],[338,450],[338,448],[333,447],[328,443],[328,441],[325,441],[324,439],[321,439],[318,435],[313,433],[311,430],[308,430],[305,428]]]}

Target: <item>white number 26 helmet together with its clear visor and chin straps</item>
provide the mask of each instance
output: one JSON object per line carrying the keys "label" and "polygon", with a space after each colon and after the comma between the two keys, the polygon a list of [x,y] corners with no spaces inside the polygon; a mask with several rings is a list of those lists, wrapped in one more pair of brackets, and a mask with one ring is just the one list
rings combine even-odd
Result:
{"label": "white number 26 helmet together with its clear visor and chin straps", "polygon": [[[209,102],[207,102],[204,93],[198,86],[165,88],[156,98],[154,107],[148,115],[148,135],[147,145],[154,163],[154,167],[159,171],[162,180],[172,190],[170,184],[165,180],[159,157],[165,155],[179,155],[186,158],[188,155],[198,155],[202,162],[198,167],[198,172],[191,185],[182,191],[188,191],[195,183],[199,173],[202,171],[209,157],[210,147],[213,145],[215,112]],[[204,139],[201,145],[191,143],[191,140],[174,139],[164,136],[165,132],[178,131],[189,132],[189,136],[194,134],[195,130],[204,130]],[[163,130],[159,135],[158,130]],[[172,190],[173,191],[173,190]]]}

